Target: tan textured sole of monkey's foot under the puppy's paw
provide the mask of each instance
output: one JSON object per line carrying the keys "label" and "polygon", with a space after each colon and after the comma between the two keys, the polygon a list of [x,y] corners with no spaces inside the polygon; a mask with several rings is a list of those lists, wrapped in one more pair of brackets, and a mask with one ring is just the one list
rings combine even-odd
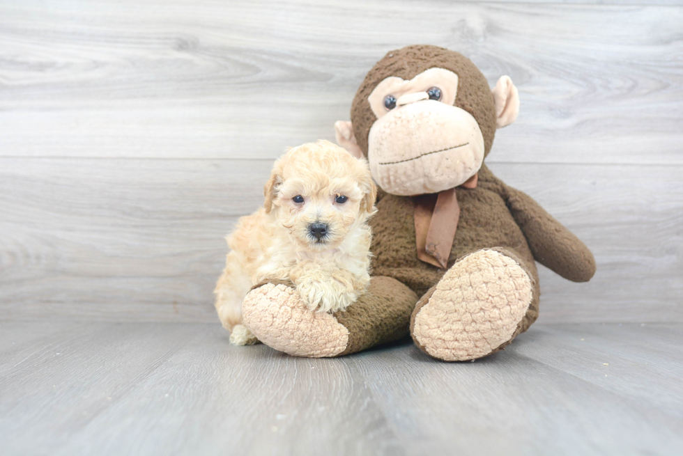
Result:
{"label": "tan textured sole of monkey's foot under the puppy's paw", "polygon": [[348,330],[329,313],[311,312],[296,290],[266,283],[242,303],[244,324],[261,342],[293,356],[323,358],[346,349]]}

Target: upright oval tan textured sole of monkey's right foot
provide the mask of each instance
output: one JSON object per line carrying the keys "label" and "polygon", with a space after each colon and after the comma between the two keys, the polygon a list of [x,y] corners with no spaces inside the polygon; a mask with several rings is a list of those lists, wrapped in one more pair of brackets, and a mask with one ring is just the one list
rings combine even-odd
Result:
{"label": "upright oval tan textured sole of monkey's right foot", "polygon": [[528,274],[509,256],[495,250],[467,255],[417,311],[413,339],[444,361],[482,358],[512,338],[532,289]]}

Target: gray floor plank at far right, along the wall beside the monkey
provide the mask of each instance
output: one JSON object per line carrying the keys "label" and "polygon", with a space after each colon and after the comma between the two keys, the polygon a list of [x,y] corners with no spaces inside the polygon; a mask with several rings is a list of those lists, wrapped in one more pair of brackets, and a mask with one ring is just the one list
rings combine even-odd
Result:
{"label": "gray floor plank at far right, along the wall beside the monkey", "polygon": [[[657,333],[657,337],[651,335]],[[607,386],[670,414],[683,412],[680,327],[647,324],[539,325],[514,347],[516,353],[541,361],[587,382]],[[544,340],[551,346],[539,347]],[[540,344],[539,344],[540,343]]]}

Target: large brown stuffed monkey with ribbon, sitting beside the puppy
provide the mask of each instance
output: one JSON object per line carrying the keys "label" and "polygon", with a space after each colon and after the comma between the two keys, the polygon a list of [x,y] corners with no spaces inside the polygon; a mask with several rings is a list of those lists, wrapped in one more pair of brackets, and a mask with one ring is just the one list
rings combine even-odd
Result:
{"label": "large brown stuffed monkey with ribbon, sitting beside the puppy", "polygon": [[509,77],[489,88],[466,57],[435,46],[389,52],[337,122],[337,142],[369,160],[380,187],[371,219],[373,278],[344,313],[310,312],[288,283],[257,285],[245,324],[299,356],[339,356],[404,337],[445,361],[497,352],[538,317],[535,261],[588,281],[586,246],[484,164],[514,122]]}

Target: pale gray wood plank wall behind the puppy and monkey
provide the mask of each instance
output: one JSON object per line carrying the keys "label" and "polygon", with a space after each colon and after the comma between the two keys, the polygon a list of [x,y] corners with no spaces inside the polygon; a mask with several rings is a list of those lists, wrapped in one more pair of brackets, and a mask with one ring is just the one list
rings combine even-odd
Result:
{"label": "pale gray wood plank wall behind the puppy and monkey", "polygon": [[214,321],[273,159],[429,43],[512,77],[487,162],[597,258],[540,321],[683,322],[683,2],[632,3],[0,1],[0,318]]}

